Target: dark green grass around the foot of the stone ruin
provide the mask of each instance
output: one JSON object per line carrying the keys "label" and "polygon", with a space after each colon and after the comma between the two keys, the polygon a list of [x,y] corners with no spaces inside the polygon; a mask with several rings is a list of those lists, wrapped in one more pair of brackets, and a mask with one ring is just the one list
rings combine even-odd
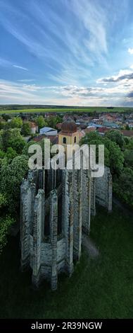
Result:
{"label": "dark green grass around the foot of the stone ruin", "polygon": [[18,241],[11,239],[0,258],[0,317],[3,318],[132,318],[133,223],[115,208],[100,210],[91,221],[91,239],[100,256],[82,254],[72,278],[62,276],[58,290],[44,283],[31,286],[30,273],[20,272]]}

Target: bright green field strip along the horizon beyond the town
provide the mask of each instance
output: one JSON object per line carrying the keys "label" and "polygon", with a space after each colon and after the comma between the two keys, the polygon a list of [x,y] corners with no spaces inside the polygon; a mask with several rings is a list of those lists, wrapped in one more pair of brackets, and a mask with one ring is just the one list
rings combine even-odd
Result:
{"label": "bright green field strip along the horizon beyond the town", "polygon": [[106,108],[106,107],[88,107],[88,108],[58,108],[58,107],[51,107],[51,108],[23,108],[22,106],[19,106],[18,108],[8,108],[0,106],[0,114],[7,113],[7,114],[18,114],[18,113],[102,113],[102,112],[118,112],[118,113],[132,113],[133,108]]}

